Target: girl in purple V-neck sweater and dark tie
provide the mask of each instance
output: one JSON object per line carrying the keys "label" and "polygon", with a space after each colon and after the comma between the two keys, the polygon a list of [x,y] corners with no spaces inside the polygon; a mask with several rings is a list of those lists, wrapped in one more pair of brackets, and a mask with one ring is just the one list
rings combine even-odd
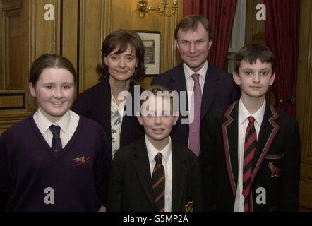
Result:
{"label": "girl in purple V-neck sweater and dark tie", "polygon": [[65,57],[33,62],[29,89],[39,108],[0,137],[7,211],[105,210],[112,154],[102,127],[69,110],[75,82]]}

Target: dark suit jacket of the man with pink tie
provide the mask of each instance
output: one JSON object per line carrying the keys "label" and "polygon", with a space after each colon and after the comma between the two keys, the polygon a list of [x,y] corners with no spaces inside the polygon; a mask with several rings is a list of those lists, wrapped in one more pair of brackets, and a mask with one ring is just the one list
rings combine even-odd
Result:
{"label": "dark suit jacket of the man with pink tie", "polygon": [[[183,63],[173,69],[156,76],[152,79],[152,85],[163,85],[170,90],[186,91],[186,79]],[[179,97],[180,97],[179,92]],[[239,87],[234,83],[232,75],[208,64],[205,76],[205,86],[201,102],[201,119],[207,112],[218,107],[231,104],[239,98]],[[182,109],[181,109],[182,108]],[[181,124],[181,119],[188,118],[188,115],[181,115],[181,112],[188,110],[188,99],[186,95],[186,109],[180,105],[180,116],[176,126],[172,129],[172,138],[183,145],[188,145],[188,124]]]}

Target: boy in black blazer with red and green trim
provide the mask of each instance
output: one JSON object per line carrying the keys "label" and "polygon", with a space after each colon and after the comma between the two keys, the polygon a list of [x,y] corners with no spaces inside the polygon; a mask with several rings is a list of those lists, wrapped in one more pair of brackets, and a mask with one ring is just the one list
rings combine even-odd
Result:
{"label": "boy in black blazer with red and green trim", "polygon": [[205,210],[296,211],[300,136],[292,116],[265,100],[275,79],[268,47],[250,44],[236,54],[241,98],[203,119],[200,162]]}

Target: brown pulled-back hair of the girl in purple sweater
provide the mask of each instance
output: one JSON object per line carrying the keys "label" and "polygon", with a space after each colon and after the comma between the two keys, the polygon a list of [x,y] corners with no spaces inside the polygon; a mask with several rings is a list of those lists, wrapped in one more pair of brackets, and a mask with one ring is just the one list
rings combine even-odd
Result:
{"label": "brown pulled-back hair of the girl in purple sweater", "polygon": [[56,54],[42,54],[32,63],[29,73],[29,82],[32,83],[33,86],[36,86],[42,71],[49,68],[68,70],[71,74],[73,74],[73,80],[76,82],[77,74],[73,64],[71,64],[71,61],[69,61],[66,57]]}

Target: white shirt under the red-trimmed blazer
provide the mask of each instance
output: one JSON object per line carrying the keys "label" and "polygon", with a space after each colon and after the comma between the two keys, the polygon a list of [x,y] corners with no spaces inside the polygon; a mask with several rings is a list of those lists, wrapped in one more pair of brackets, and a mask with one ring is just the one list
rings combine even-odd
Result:
{"label": "white shirt under the red-trimmed blazer", "polygon": [[246,107],[244,106],[241,98],[239,100],[239,136],[238,136],[238,158],[239,158],[239,178],[237,182],[236,188],[236,196],[234,203],[234,212],[244,212],[244,201],[245,198],[243,196],[243,165],[244,165],[244,145],[245,145],[245,135],[246,129],[249,124],[248,117],[252,116],[255,118],[255,129],[257,133],[257,140],[259,136],[260,126],[263,120],[263,115],[265,112],[265,100],[263,101],[263,105],[261,105],[260,109],[254,114],[250,114]]}

